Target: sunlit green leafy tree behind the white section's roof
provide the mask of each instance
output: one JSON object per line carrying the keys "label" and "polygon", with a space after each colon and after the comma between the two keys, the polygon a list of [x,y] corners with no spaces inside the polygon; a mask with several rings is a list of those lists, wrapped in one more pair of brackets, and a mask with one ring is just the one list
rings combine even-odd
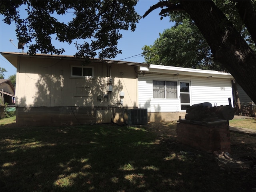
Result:
{"label": "sunlit green leafy tree behind the white section's roof", "polygon": [[145,62],[149,64],[224,70],[211,59],[210,47],[188,18],[164,30],[153,46],[144,46],[142,50]]}

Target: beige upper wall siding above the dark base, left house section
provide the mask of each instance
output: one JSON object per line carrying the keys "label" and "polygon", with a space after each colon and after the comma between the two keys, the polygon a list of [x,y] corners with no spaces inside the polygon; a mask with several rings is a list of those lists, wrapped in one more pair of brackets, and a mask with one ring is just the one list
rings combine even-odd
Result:
{"label": "beige upper wall siding above the dark base, left house section", "polygon": [[[119,93],[125,93],[125,107],[137,106],[137,80],[134,66],[91,63],[94,77],[74,78],[70,76],[72,66],[81,62],[56,59],[21,58],[18,64],[18,82],[22,84],[16,92],[18,106],[111,106],[120,101]],[[108,92],[111,70],[113,91]],[[40,72],[40,73],[38,73]],[[99,101],[98,95],[108,94],[108,101]]]}

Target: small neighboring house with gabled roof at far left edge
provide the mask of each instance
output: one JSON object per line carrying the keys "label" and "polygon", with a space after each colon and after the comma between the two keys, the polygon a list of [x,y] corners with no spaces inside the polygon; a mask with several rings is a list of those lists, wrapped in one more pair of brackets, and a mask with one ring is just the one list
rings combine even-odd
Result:
{"label": "small neighboring house with gabled roof at far left edge", "polygon": [[1,104],[8,103],[8,105],[14,105],[15,89],[12,86],[10,79],[0,79],[0,94]]}

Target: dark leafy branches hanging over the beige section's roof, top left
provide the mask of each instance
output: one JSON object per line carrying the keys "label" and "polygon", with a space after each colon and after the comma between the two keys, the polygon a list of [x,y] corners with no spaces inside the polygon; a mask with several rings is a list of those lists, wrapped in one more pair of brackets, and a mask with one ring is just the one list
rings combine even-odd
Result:
{"label": "dark leafy branches hanging over the beige section's roof, top left", "polygon": [[[4,22],[15,22],[19,40],[29,43],[29,54],[62,54],[52,38],[60,42],[74,43],[77,57],[114,58],[121,53],[117,41],[122,38],[120,30],[132,30],[140,16],[135,12],[137,1],[1,1]],[[19,10],[25,10],[26,16]],[[23,11],[24,12],[24,11]],[[58,16],[68,16],[67,23]],[[22,18],[24,17],[24,18]],[[83,43],[77,40],[84,40]]]}

